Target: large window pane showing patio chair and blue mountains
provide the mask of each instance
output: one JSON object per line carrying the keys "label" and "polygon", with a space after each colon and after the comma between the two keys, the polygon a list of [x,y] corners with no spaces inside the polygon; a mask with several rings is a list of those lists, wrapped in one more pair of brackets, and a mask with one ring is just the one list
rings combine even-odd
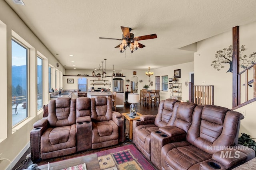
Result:
{"label": "large window pane showing patio chair and blue mountains", "polygon": [[12,126],[28,117],[28,48],[12,39]]}

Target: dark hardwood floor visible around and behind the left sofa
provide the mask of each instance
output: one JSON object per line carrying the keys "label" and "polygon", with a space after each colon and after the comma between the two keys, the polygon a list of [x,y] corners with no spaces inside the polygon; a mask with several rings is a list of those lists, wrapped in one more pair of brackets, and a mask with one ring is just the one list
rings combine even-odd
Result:
{"label": "dark hardwood floor visible around and behind the left sofa", "polygon": [[[140,103],[136,104],[137,106],[137,111],[139,113],[141,113],[142,115],[147,115],[147,114],[151,114],[151,115],[156,115],[158,113],[158,104],[156,106],[143,106]],[[125,104],[125,107],[117,107],[116,111],[118,111],[119,113],[127,113],[130,112],[130,104]],[[128,121],[126,121],[126,133],[128,132]],[[101,149],[91,149],[91,150],[86,150],[86,151],[82,151],[82,152],[76,152],[74,154],[70,154],[67,156],[61,156],[58,158],[53,158],[53,159],[48,159],[48,160],[42,160],[40,162],[36,162],[36,164],[43,165],[43,164],[48,164],[48,162],[56,162],[56,161],[60,161],[60,160],[66,160],[69,158],[75,158],[77,156],[84,156],[86,154],[90,154],[90,153],[94,153],[94,152],[98,152],[98,151],[102,151],[102,150],[107,150],[107,149],[112,149],[112,148],[116,148],[116,147],[121,147],[124,145],[130,145],[132,144],[132,141],[126,140],[125,143],[121,143],[115,146],[111,146],[111,147],[106,147],[106,148],[101,148]],[[19,166],[22,165],[22,163],[24,162],[24,160],[26,160],[26,156],[30,153],[30,148],[25,152],[25,154],[22,156],[22,158],[20,158],[20,160],[18,161],[18,163],[14,166],[14,168],[12,168],[12,170],[16,170],[16,168],[18,168]],[[33,162],[31,161],[31,159],[28,159],[28,161],[26,163],[24,163],[23,166],[19,167],[17,170],[21,170],[21,169],[26,169],[28,168],[28,166],[30,166],[31,164],[33,164]],[[68,165],[67,165],[68,167]]]}

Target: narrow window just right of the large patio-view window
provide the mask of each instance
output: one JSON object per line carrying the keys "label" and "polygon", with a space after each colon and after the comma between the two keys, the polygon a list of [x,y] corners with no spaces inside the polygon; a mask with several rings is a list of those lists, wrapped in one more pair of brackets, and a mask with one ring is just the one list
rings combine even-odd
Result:
{"label": "narrow window just right of the large patio-view window", "polygon": [[37,57],[37,110],[43,107],[43,59]]}

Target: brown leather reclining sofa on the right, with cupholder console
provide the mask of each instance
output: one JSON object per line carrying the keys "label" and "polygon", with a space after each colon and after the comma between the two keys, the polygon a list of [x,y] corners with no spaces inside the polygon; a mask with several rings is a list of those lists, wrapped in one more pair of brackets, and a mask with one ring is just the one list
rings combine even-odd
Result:
{"label": "brown leather reclining sofa on the right, with cupholder console", "polygon": [[240,119],[227,108],[166,99],[133,121],[133,141],[161,170],[231,169],[255,157],[238,143]]}

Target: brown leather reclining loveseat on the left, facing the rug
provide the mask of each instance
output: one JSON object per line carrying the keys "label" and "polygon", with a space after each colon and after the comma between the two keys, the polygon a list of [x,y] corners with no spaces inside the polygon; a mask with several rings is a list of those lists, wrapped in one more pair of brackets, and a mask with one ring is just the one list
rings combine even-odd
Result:
{"label": "brown leather reclining loveseat on the left, facing the rug", "polygon": [[33,162],[124,141],[124,119],[112,111],[111,98],[57,98],[44,115],[30,132]]}

